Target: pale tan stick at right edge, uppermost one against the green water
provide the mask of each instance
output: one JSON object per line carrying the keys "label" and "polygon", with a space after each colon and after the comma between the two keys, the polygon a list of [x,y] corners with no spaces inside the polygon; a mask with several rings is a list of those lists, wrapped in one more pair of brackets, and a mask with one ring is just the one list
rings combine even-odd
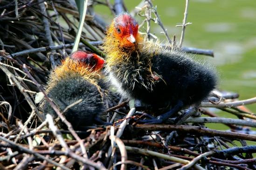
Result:
{"label": "pale tan stick at right edge, uppermost one against the green water", "polygon": [[256,103],[256,97],[246,99],[246,100],[236,101],[236,102],[221,102],[219,104],[213,104],[211,102],[202,102],[201,107],[202,108],[232,108],[232,107],[243,106],[243,105],[253,104],[253,103]]}

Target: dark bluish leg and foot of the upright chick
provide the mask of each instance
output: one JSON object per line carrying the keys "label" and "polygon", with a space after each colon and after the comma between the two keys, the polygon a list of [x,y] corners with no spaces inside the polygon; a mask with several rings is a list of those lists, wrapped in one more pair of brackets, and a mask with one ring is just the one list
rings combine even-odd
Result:
{"label": "dark bluish leg and foot of the upright chick", "polygon": [[169,117],[173,116],[173,114],[177,113],[178,111],[180,111],[180,109],[183,107],[183,102],[179,101],[177,102],[176,105],[174,105],[172,107],[172,109],[162,115],[159,115],[153,119],[150,120],[140,120],[139,122],[143,122],[146,124],[159,124],[162,122],[165,122]]}

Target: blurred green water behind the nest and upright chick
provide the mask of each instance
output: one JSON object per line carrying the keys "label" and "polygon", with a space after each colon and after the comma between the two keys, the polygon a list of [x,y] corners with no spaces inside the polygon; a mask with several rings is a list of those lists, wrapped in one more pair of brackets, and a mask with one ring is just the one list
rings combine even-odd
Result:
{"label": "blurred green water behind the nest and upright chick", "polygon": [[[124,0],[129,11],[140,0]],[[183,20],[185,0],[153,0],[168,34],[180,40],[181,27],[175,27]],[[111,22],[109,10],[96,7]],[[136,16],[137,20],[142,20]],[[214,58],[200,56],[216,66],[220,81],[218,88],[240,94],[239,99],[256,96],[256,1],[255,0],[190,0],[183,45],[186,47],[214,50]],[[143,28],[141,29],[143,31]],[[153,34],[166,41],[161,29],[152,23]],[[248,106],[256,112],[256,104]],[[220,116],[235,117],[224,112]],[[228,129],[221,124],[208,124],[213,129]],[[254,143],[256,144],[256,143]]]}

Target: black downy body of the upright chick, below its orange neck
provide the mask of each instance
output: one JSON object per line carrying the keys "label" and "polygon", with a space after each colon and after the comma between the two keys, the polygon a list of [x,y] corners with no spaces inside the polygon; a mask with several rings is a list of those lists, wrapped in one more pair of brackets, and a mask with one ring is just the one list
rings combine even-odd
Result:
{"label": "black downy body of the upright chick, below its orange neck", "polygon": [[[129,60],[109,68],[110,80],[117,86],[118,92],[150,104],[155,109],[171,106],[174,114],[183,106],[200,102],[215,88],[217,79],[214,69],[184,53],[165,48],[159,51],[135,51]],[[170,113],[167,115],[162,121]]]}

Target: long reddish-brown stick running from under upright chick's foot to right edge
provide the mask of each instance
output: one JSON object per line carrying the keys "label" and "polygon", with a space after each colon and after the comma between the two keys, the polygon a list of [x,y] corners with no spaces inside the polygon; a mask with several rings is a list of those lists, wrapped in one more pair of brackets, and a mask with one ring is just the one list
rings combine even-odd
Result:
{"label": "long reddish-brown stick running from under upright chick's foot to right edge", "polygon": [[249,141],[256,141],[256,135],[248,135],[237,132],[228,132],[221,130],[214,130],[208,128],[202,128],[198,126],[188,126],[188,125],[167,125],[167,124],[138,124],[135,126],[138,129],[144,130],[177,130],[181,132],[192,133],[195,135],[207,135],[207,136],[221,136],[228,137],[231,139],[244,139]]}

